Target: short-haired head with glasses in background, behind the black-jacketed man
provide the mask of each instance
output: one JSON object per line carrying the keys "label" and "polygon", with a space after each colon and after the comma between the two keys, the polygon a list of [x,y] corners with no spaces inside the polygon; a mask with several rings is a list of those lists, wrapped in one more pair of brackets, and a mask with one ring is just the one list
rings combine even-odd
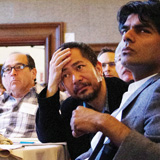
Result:
{"label": "short-haired head with glasses in background, behind the black-jacketed man", "polygon": [[98,54],[98,61],[102,64],[102,69],[105,77],[118,77],[115,68],[115,53],[112,49],[104,47]]}

